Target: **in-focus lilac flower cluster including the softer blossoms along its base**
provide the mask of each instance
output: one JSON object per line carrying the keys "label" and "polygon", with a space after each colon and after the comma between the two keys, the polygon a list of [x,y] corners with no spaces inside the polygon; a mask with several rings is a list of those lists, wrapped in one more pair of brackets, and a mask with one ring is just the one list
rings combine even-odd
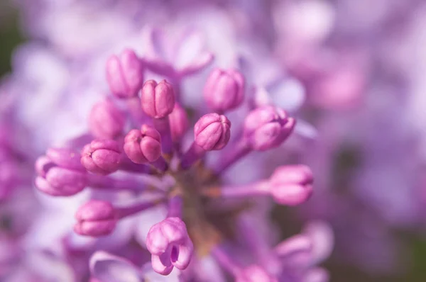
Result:
{"label": "in-focus lilac flower cluster including the softer blossoms along its base", "polygon": [[[327,233],[322,225],[272,248],[268,239],[256,235],[256,221],[247,215],[261,204],[258,196],[271,196],[282,205],[307,201],[312,193],[309,167],[278,167],[270,178],[251,184],[226,184],[222,179],[226,169],[251,152],[280,146],[293,132],[294,118],[271,104],[251,106],[231,139],[231,121],[224,114],[243,105],[246,81],[236,69],[214,69],[200,89],[214,112],[198,118],[192,143],[184,145],[182,138],[192,122],[180,104],[178,81],[210,64],[213,56],[205,54],[183,69],[159,56],[138,57],[130,49],[109,57],[106,74],[114,96],[93,106],[90,132],[38,158],[35,186],[62,197],[100,191],[103,197],[87,201],[75,214],[74,231],[89,237],[114,236],[124,219],[167,206],[165,218],[149,228],[142,242],[151,253],[153,271],[162,275],[178,269],[175,275],[181,281],[199,281],[197,265],[211,256],[236,281],[327,281],[327,272],[315,267],[321,261],[316,256],[324,254],[313,252],[313,233]],[[143,82],[144,69],[175,84],[165,79]],[[207,164],[211,151],[224,152],[217,162]],[[123,195],[138,201],[115,203]],[[119,281],[116,276],[124,274],[114,267],[127,269],[125,275],[139,280],[146,275],[130,261],[100,252],[92,257],[92,279]]]}

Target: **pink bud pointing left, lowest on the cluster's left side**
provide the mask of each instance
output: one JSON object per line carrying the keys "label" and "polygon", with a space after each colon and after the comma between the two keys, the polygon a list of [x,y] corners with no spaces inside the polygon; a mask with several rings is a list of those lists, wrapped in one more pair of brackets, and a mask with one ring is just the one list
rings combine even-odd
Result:
{"label": "pink bud pointing left, lowest on the cluster's left side", "polygon": [[82,205],[75,214],[74,231],[80,235],[99,237],[109,235],[116,227],[114,207],[106,201],[92,200]]}

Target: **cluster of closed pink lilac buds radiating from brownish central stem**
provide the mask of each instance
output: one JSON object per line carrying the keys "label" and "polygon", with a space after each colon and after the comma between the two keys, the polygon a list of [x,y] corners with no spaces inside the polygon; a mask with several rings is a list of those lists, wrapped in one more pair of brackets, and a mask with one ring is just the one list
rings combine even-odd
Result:
{"label": "cluster of closed pink lilac buds radiating from brownish central stem", "polygon": [[[91,200],[77,211],[74,230],[90,237],[109,235],[123,218],[165,204],[168,215],[146,237],[154,271],[163,275],[174,268],[183,271],[195,254],[211,254],[236,281],[276,281],[279,271],[269,271],[256,259],[251,266],[233,261],[222,244],[230,238],[221,229],[232,217],[213,222],[211,215],[221,212],[217,201],[231,201],[224,213],[238,215],[258,196],[271,196],[282,205],[310,198],[312,172],[303,165],[278,167],[271,178],[253,184],[222,184],[224,172],[246,155],[280,146],[295,120],[280,108],[260,106],[246,115],[242,127],[236,128],[241,134],[231,140],[226,113],[244,103],[246,81],[236,69],[214,69],[204,86],[213,113],[198,118],[193,142],[184,146],[190,120],[175,95],[178,86],[165,79],[143,83],[144,67],[132,50],[108,60],[107,81],[114,96],[94,105],[89,114],[92,141],[83,146],[77,138],[69,142],[77,148],[50,148],[35,164],[35,186],[51,196],[72,196],[86,188],[155,194],[127,206]],[[117,98],[126,103],[127,111],[114,103]],[[220,161],[208,167],[208,152],[225,147]],[[271,250],[271,258],[278,255],[275,251]]]}

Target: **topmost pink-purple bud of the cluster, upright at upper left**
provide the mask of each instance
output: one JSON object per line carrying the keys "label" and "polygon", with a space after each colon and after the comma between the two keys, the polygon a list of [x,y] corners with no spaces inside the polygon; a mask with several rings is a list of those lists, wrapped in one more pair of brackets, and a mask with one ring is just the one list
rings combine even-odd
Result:
{"label": "topmost pink-purple bud of the cluster, upright at upper left", "polygon": [[111,92],[119,98],[138,94],[143,84],[143,65],[131,49],[112,55],[107,61],[107,81]]}

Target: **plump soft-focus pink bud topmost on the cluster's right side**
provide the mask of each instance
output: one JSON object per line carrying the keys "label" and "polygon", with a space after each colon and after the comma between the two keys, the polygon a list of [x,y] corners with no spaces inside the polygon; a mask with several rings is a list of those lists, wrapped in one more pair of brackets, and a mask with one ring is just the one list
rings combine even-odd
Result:
{"label": "plump soft-focus pink bud topmost on the cluster's right side", "polygon": [[244,77],[235,69],[214,69],[204,86],[204,99],[213,111],[224,113],[244,99]]}

